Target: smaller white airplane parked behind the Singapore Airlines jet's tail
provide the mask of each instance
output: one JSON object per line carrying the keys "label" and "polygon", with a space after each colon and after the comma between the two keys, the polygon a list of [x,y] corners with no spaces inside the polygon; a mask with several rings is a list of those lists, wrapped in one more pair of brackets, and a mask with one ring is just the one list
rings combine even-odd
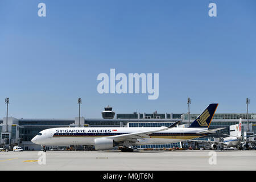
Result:
{"label": "smaller white airplane parked behind the Singapore Airlines jet's tail", "polygon": [[207,143],[213,143],[210,148],[212,148],[213,150],[215,150],[217,148],[217,144],[216,143],[220,143],[223,144],[224,150],[226,148],[230,148],[230,147],[236,147],[238,148],[238,150],[242,150],[242,148],[248,148],[248,142],[243,141],[243,137],[253,137],[255,135],[247,135],[247,136],[242,136],[242,118],[240,118],[239,124],[237,126],[237,135],[228,135],[228,134],[223,134],[223,135],[227,135],[229,137],[225,137],[223,138],[223,142],[216,142],[216,141],[208,141],[208,140],[189,140],[190,142],[207,142]]}

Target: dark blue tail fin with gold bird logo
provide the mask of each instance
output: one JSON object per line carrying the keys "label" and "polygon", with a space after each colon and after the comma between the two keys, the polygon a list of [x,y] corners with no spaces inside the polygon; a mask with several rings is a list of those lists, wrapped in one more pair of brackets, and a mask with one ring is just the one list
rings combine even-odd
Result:
{"label": "dark blue tail fin with gold bird logo", "polygon": [[189,127],[198,127],[198,128],[208,129],[217,107],[218,107],[218,104],[210,104],[207,107],[207,109],[205,109],[203,113],[201,113],[199,117],[197,117],[196,120],[191,123]]}

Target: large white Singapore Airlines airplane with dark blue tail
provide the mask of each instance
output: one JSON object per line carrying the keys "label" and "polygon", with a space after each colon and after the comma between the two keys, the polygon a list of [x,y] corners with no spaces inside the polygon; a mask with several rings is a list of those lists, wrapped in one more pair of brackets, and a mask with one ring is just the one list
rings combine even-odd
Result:
{"label": "large white Singapore Airlines airplane with dark blue tail", "polygon": [[223,128],[208,130],[218,104],[210,104],[188,128],[175,127],[65,127],[40,131],[31,142],[42,145],[93,145],[95,150],[109,150],[122,146],[123,152],[133,151],[130,146],[168,144],[203,137]]}

